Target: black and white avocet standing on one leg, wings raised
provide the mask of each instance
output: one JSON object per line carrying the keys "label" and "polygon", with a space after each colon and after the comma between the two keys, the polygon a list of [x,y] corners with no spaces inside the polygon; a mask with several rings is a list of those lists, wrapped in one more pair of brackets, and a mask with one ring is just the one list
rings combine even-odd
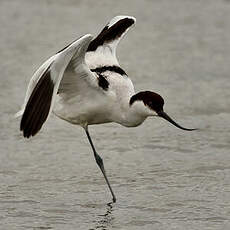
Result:
{"label": "black and white avocet standing on one leg, wings raised", "polygon": [[22,109],[20,130],[24,137],[34,136],[51,112],[81,126],[92,147],[95,160],[116,202],[106,176],[102,158],[97,153],[88,126],[116,122],[135,127],[149,116],[166,119],[164,99],[155,92],[135,93],[134,86],[116,58],[121,38],[136,22],[134,17],[116,16],[93,38],[87,34],[75,40],[45,61],[29,82]]}

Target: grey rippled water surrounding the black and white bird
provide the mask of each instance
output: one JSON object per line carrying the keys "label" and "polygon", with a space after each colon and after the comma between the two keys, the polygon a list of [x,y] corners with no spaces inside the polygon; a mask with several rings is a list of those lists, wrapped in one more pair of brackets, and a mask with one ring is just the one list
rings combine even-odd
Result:
{"label": "grey rippled water surrounding the black and white bird", "polygon": [[[136,90],[153,90],[185,132],[159,118],[84,131],[51,116],[26,140],[13,115],[29,79],[80,35],[133,15],[118,47]],[[0,0],[0,229],[230,229],[230,2]]]}

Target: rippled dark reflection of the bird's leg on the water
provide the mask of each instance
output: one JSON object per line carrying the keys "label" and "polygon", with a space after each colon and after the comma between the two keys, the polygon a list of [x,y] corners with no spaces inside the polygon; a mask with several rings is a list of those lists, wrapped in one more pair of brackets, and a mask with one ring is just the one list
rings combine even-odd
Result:
{"label": "rippled dark reflection of the bird's leg on the water", "polygon": [[112,217],[112,211],[113,211],[113,203],[108,203],[106,206],[106,213],[103,215],[99,215],[100,219],[97,220],[95,228],[93,229],[101,229],[106,230],[111,225],[111,221],[113,220]]}

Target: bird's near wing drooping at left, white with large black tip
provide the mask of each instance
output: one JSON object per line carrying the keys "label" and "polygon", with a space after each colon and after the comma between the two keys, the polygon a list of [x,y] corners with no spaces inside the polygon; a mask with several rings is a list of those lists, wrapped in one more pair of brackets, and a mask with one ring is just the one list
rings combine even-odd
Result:
{"label": "bird's near wing drooping at left, white with large black tip", "polygon": [[20,130],[24,137],[34,136],[47,120],[64,71],[73,57],[78,69],[85,75],[93,76],[85,64],[85,53],[91,40],[91,35],[81,37],[50,57],[35,72],[30,80],[22,110],[17,113],[18,116],[22,115]]}

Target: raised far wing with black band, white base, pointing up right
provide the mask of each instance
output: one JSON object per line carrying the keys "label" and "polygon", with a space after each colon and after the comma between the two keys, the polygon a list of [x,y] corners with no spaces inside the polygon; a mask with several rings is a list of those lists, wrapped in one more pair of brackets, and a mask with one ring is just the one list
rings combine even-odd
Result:
{"label": "raised far wing with black band, white base, pointing up right", "polygon": [[90,69],[119,66],[116,58],[117,45],[135,22],[136,19],[131,16],[116,16],[103,28],[87,49],[86,63]]}

